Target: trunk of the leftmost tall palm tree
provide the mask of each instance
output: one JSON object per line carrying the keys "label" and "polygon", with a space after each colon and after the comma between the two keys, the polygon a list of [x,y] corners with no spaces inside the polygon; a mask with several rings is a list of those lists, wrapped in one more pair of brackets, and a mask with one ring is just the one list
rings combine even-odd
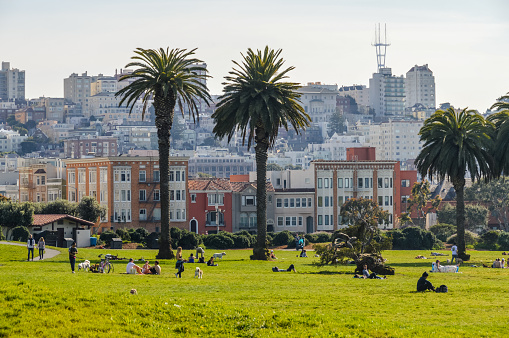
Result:
{"label": "trunk of the leftmost tall palm tree", "polygon": [[157,138],[159,144],[159,176],[161,187],[161,236],[158,259],[173,259],[170,237],[170,135],[175,100],[157,95],[154,97]]}

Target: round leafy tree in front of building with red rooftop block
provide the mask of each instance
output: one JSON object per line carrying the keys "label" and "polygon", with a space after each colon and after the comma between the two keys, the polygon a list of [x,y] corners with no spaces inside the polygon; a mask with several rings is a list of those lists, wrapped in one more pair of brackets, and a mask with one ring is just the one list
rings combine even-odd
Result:
{"label": "round leafy tree in front of building with red rooftop block", "polygon": [[362,197],[346,201],[341,207],[340,215],[342,220],[353,229],[350,234],[357,237],[361,254],[379,233],[378,225],[389,221],[387,211],[380,208],[375,201]]}

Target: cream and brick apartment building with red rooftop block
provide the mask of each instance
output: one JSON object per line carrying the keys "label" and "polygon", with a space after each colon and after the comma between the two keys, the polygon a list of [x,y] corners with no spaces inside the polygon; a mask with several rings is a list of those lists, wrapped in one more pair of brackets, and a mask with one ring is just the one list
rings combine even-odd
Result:
{"label": "cream and brick apartment building with red rooftop block", "polygon": [[389,213],[389,221],[380,228],[394,228],[397,217],[405,211],[402,186],[411,187],[417,178],[416,173],[402,175],[398,161],[377,161],[374,148],[351,148],[346,161],[319,160],[313,165],[317,231],[347,226],[340,216],[341,206],[350,198],[360,197],[376,201]]}

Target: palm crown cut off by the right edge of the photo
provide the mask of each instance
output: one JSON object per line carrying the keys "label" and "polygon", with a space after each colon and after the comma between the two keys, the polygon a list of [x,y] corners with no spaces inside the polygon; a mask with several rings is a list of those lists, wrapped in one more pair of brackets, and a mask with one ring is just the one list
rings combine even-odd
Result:
{"label": "palm crown cut off by the right edge of the photo", "polygon": [[495,125],[495,144],[493,158],[495,160],[494,174],[500,176],[509,172],[509,93],[502,96],[490,109],[498,110],[488,116],[488,120]]}

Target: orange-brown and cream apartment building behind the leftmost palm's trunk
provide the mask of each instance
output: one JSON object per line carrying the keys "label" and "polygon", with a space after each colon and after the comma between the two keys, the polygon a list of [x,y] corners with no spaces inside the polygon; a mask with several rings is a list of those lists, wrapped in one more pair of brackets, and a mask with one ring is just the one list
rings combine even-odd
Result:
{"label": "orange-brown and cream apartment building behind the leftmost palm's trunk", "polygon": [[[188,228],[188,162],[171,157],[170,221],[172,226]],[[109,156],[65,160],[67,196],[79,202],[95,197],[108,208],[100,220],[99,231],[144,227],[159,232],[161,227],[161,188],[158,157]]]}

